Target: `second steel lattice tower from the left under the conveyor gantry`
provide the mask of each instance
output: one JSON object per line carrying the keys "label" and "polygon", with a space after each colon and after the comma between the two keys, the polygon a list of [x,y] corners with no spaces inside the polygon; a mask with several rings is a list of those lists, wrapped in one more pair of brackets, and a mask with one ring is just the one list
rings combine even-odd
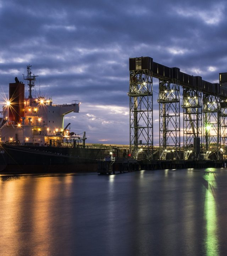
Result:
{"label": "second steel lattice tower from the left under the conveyor gantry", "polygon": [[180,100],[177,79],[159,79],[160,160],[180,159]]}

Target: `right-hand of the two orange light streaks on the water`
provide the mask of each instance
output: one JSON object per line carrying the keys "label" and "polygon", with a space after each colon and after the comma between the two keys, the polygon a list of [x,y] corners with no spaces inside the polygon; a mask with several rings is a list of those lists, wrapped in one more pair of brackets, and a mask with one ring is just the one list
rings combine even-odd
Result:
{"label": "right-hand of the two orange light streaks on the water", "polygon": [[53,252],[56,244],[67,236],[71,219],[66,218],[65,210],[70,210],[70,205],[64,207],[64,200],[71,196],[72,176],[60,178],[43,177],[37,178],[34,190],[34,213],[33,248],[34,255],[42,256],[47,252]]}

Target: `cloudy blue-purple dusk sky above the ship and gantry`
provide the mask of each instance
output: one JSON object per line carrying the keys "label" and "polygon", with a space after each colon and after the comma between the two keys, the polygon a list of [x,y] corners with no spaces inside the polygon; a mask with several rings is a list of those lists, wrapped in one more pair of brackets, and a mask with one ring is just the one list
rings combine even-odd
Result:
{"label": "cloudy blue-purple dusk sky above the ship and gantry", "polygon": [[129,144],[129,57],[218,82],[227,71],[226,9],[219,0],[0,0],[1,95],[31,64],[41,95],[82,102],[65,120],[71,131],[86,131],[87,143]]}

